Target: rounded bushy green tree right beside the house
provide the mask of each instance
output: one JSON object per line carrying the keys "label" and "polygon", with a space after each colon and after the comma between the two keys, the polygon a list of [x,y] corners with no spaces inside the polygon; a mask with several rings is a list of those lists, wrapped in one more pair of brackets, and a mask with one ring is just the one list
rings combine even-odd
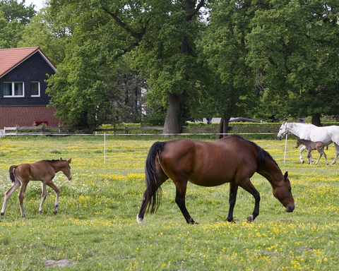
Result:
{"label": "rounded bushy green tree right beside the house", "polygon": [[57,116],[90,132],[101,124],[116,121],[118,116],[129,120],[141,116],[136,99],[140,98],[145,80],[136,69],[131,69],[131,56],[126,52],[133,45],[124,31],[105,12],[85,4],[74,9],[66,4],[71,18],[63,16],[62,5],[54,6],[50,12],[52,21],[63,25],[68,37],[65,59],[58,65],[58,73],[49,78],[47,92],[51,96],[50,106],[57,108]]}

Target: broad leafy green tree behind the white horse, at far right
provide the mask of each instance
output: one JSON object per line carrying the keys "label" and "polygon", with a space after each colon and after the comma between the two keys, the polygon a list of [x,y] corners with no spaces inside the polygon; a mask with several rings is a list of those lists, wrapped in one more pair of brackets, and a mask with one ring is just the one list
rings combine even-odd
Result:
{"label": "broad leafy green tree behind the white horse, at far right", "polygon": [[[338,115],[338,1],[256,1],[248,63],[264,72],[280,116]],[[278,100],[278,103],[277,103]]]}

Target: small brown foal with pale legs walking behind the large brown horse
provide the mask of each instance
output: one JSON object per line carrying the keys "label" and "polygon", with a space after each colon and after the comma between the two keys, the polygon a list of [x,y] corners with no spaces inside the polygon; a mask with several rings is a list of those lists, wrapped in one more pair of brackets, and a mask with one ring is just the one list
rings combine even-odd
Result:
{"label": "small brown foal with pale legs walking behind the large brown horse", "polygon": [[42,160],[33,164],[19,164],[18,166],[11,166],[9,168],[9,176],[12,181],[11,188],[5,193],[4,205],[1,209],[1,219],[4,218],[7,201],[11,198],[11,195],[16,189],[21,186],[18,197],[20,202],[21,216],[25,217],[25,212],[23,210],[23,195],[25,194],[27,185],[29,181],[41,181],[41,203],[39,207],[39,212],[42,214],[42,205],[44,205],[44,200],[46,199],[47,192],[46,186],[53,188],[57,193],[55,198],[55,209],[54,215],[58,212],[59,207],[59,188],[53,183],[52,179],[58,171],[62,171],[66,177],[71,181],[71,160]]}

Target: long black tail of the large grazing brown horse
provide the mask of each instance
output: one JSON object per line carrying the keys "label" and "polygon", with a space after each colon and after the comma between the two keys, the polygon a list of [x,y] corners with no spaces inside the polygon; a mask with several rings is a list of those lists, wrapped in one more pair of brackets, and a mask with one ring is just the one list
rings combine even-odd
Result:
{"label": "long black tail of the large grazing brown horse", "polygon": [[146,190],[144,193],[145,205],[143,212],[145,212],[146,207],[148,205],[147,210],[152,213],[157,210],[160,205],[160,197],[161,197],[161,183],[157,176],[157,167],[155,164],[155,159],[160,154],[160,152],[164,149],[164,143],[155,142],[147,155],[146,164],[145,164],[145,181],[146,181]]}

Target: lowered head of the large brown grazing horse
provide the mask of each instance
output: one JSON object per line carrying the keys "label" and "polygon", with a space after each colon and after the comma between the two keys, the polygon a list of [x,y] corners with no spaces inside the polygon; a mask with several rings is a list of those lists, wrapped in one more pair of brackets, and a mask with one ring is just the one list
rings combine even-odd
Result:
{"label": "lowered head of the large brown grazing horse", "polygon": [[284,205],[286,212],[293,212],[295,210],[295,200],[292,196],[292,188],[287,171],[283,178],[282,181],[275,183],[273,195]]}

